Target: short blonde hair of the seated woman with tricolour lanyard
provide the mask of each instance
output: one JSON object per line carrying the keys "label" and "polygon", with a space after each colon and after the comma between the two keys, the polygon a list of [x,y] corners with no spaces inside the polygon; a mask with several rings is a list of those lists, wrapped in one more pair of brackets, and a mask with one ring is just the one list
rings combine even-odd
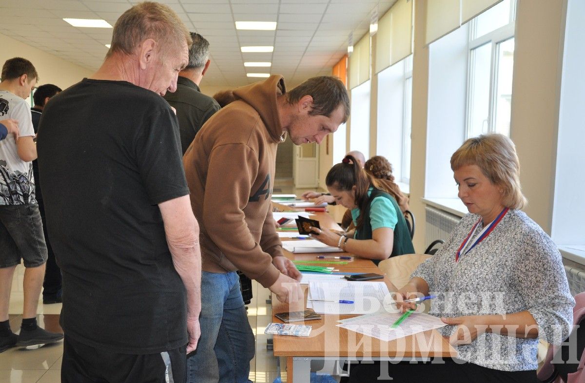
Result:
{"label": "short blonde hair of the seated woman with tricolour lanyard", "polygon": [[522,209],[526,198],[520,185],[520,163],[512,140],[503,134],[481,134],[463,143],[451,156],[451,170],[477,165],[502,190],[502,204]]}

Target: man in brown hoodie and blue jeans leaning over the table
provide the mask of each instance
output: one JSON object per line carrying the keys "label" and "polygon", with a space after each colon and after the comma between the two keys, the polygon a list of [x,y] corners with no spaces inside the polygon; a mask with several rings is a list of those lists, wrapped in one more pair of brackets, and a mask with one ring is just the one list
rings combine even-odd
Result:
{"label": "man in brown hoodie and blue jeans leaning over the table", "polygon": [[280,301],[302,298],[300,272],[283,256],[270,209],[277,146],[286,134],[297,145],[321,143],[349,116],[345,86],[333,77],[287,93],[273,75],[233,94],[236,101],[205,123],[183,157],[203,270],[201,339],[187,361],[188,382],[248,381],[254,336],[236,270]]}

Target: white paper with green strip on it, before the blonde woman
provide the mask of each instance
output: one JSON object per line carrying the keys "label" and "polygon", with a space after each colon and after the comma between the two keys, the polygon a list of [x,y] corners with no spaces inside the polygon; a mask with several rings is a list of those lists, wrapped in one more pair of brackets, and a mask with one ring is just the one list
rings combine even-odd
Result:
{"label": "white paper with green strip on it, before the blonde woman", "polygon": [[426,330],[438,329],[446,326],[441,319],[425,313],[412,313],[404,319],[397,328],[391,326],[402,316],[402,313],[380,312],[370,315],[356,316],[339,320],[338,327],[351,330],[384,341],[390,341]]}

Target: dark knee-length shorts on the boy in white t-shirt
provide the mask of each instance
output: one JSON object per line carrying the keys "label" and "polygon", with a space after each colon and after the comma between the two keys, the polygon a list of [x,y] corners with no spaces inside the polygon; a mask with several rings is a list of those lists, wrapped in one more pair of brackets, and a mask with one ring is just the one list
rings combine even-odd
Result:
{"label": "dark knee-length shorts on the boy in white t-shirt", "polygon": [[24,261],[39,267],[47,261],[39,205],[0,205],[0,268]]}

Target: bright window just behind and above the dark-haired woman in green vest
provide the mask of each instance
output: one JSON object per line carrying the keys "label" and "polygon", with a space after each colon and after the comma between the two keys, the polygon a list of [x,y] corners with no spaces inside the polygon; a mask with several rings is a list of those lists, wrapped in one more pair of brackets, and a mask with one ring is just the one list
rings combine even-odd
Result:
{"label": "bright window just behind and above the dark-haired woman in green vest", "polygon": [[393,167],[397,182],[410,178],[412,55],[378,73],[377,154]]}

